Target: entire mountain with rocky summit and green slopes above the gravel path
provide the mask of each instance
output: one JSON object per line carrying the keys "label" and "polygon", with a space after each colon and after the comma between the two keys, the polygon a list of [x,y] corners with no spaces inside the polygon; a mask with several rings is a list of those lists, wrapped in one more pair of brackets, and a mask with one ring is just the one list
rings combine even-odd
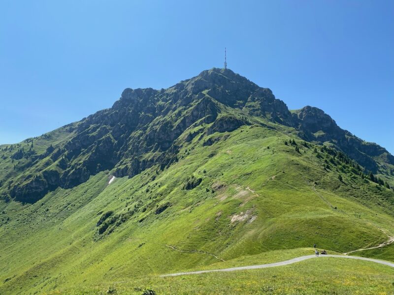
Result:
{"label": "entire mountain with rocky summit and green slopes above the gravel path", "polygon": [[393,155],[229,69],[0,148],[0,293],[394,236]]}

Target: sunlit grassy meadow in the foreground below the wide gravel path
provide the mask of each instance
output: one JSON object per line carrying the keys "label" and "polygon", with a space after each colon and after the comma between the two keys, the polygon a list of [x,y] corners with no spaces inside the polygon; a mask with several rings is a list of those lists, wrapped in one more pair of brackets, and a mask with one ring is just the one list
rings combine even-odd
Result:
{"label": "sunlit grassy meadow in the foreground below the wide gravel path", "polygon": [[[272,257],[278,256],[272,253]],[[291,251],[295,254],[297,251]],[[299,253],[304,253],[300,250]],[[310,252],[309,252],[310,253]],[[284,253],[284,256],[287,257]],[[249,261],[248,258],[247,261]],[[267,261],[270,261],[268,259]],[[229,262],[227,265],[231,265]],[[234,262],[235,264],[235,262]],[[239,266],[239,265],[238,265]],[[176,277],[149,276],[74,286],[48,294],[393,294],[394,269],[371,262],[319,258],[288,266]],[[109,291],[109,292],[108,292]]]}

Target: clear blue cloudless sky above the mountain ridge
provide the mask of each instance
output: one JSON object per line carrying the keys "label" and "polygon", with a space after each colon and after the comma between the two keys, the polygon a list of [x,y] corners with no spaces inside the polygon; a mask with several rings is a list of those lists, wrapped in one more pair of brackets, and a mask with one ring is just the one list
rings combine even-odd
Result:
{"label": "clear blue cloudless sky above the mountain ridge", "polygon": [[0,0],[0,144],[228,66],[394,153],[393,0]]}

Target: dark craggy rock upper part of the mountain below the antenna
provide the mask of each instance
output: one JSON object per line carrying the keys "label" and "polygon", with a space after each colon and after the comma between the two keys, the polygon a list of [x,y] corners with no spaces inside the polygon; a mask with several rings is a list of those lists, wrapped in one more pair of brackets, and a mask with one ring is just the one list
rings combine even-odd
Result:
{"label": "dark craggy rock upper part of the mountain below the antenna", "polygon": [[[306,141],[330,142],[374,173],[394,165],[387,150],[341,129],[322,110],[307,106],[292,114],[270,89],[214,68],[168,89],[125,89],[111,108],[63,127],[69,134],[65,142],[54,142],[42,153],[18,150],[13,158],[29,161],[19,175],[3,179],[1,194],[35,202],[100,171],[133,177],[153,165],[164,169],[177,161],[182,141],[201,132],[231,132],[256,118],[294,127]],[[187,131],[197,127],[198,132]]]}

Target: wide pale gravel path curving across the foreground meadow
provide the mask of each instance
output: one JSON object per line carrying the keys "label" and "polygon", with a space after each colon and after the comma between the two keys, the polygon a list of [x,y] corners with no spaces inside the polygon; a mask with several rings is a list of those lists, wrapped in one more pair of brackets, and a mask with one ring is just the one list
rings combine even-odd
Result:
{"label": "wide pale gravel path curving across the foreground meadow", "polygon": [[236,271],[236,270],[245,270],[245,269],[257,269],[257,268],[267,268],[267,267],[275,267],[275,266],[286,266],[289,264],[293,264],[299,261],[307,260],[307,259],[322,259],[324,257],[335,257],[335,258],[347,258],[347,259],[358,259],[358,260],[365,260],[371,261],[374,263],[391,266],[394,267],[394,263],[384,261],[384,260],[377,260],[372,258],[365,258],[365,257],[358,257],[358,256],[342,256],[342,255],[321,255],[320,257],[316,257],[315,255],[305,255],[296,257],[290,260],[275,262],[270,264],[264,265],[257,265],[257,266],[240,266],[240,267],[230,267],[230,268],[223,268],[223,269],[210,269],[210,270],[200,270],[200,271],[189,271],[189,272],[177,272],[177,273],[170,273],[161,275],[161,277],[168,277],[168,276],[178,276],[178,275],[187,275],[187,274],[199,274],[199,273],[206,273],[206,272],[218,272],[218,271]]}

